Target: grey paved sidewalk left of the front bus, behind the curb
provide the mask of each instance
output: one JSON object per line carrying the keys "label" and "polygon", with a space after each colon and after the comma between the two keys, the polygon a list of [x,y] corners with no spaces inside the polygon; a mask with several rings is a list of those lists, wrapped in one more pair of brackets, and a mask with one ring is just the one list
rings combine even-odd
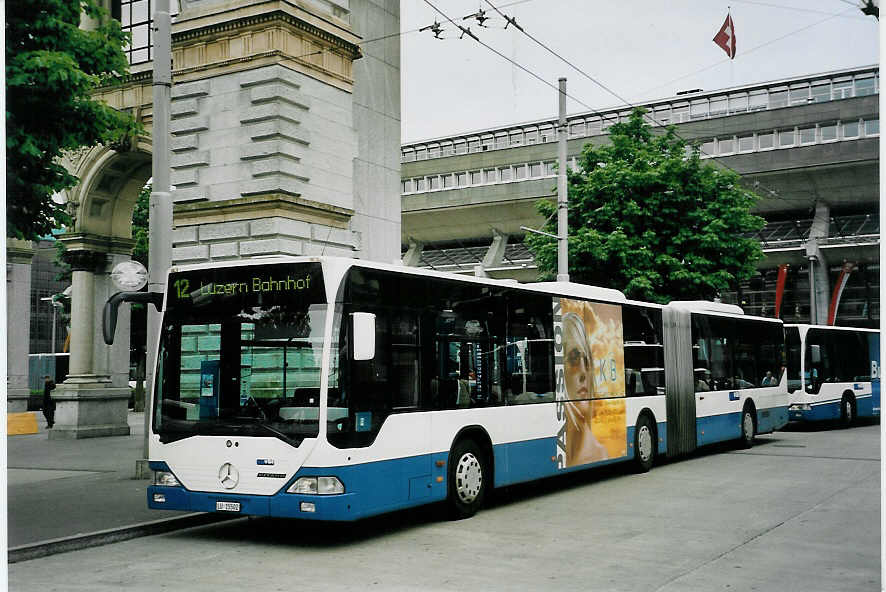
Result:
{"label": "grey paved sidewalk left of the front bus, behind the curb", "polygon": [[6,439],[10,549],[185,516],[149,510],[149,481],[134,478],[143,413],[129,413],[129,436],[83,440],[49,440],[37,415],[37,434]]}

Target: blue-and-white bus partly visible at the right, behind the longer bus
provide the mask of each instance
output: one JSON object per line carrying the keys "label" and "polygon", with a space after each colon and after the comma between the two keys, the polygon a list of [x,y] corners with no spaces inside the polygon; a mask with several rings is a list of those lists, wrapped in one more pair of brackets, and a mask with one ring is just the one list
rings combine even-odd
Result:
{"label": "blue-and-white bus partly visible at the right, behind the longer bus", "polygon": [[785,325],[791,420],[880,416],[880,332]]}

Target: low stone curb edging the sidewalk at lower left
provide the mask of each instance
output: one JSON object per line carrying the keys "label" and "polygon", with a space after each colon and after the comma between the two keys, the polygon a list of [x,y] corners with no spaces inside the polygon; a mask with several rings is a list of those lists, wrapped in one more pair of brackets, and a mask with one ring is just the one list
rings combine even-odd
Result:
{"label": "low stone curb edging the sidewalk at lower left", "polygon": [[141,522],[131,526],[109,528],[107,530],[99,530],[87,534],[77,534],[69,537],[51,539],[40,543],[20,545],[9,549],[7,562],[18,563],[20,561],[30,561],[31,559],[39,559],[40,557],[48,557],[58,553],[67,553],[68,551],[77,551],[80,549],[88,549],[90,547],[100,547],[102,545],[119,543],[121,541],[128,541],[143,536],[163,534],[194,526],[205,526],[215,522],[231,520],[233,518],[235,517],[219,514],[187,514],[176,518],[163,518],[161,520]]}

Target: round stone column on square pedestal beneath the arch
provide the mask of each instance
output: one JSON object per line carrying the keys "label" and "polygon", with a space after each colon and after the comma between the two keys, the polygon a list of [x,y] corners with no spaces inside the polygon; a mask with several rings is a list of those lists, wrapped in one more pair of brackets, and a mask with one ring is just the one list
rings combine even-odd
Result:
{"label": "round stone column on square pedestal beneath the arch", "polygon": [[107,274],[108,256],[94,245],[83,248],[82,239],[76,235],[62,239],[68,243],[65,259],[73,275],[71,361],[67,379],[52,395],[56,410],[51,440],[129,435],[129,388],[112,384],[108,348],[101,340],[99,311],[104,300],[96,293],[96,276]]}

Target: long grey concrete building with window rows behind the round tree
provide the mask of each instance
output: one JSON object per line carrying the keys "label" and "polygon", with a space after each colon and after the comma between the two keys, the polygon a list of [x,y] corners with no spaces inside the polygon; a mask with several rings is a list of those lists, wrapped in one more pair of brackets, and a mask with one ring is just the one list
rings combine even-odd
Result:
{"label": "long grey concrete building with window rows behind the round tree", "polygon": [[[870,66],[643,103],[657,124],[676,125],[703,158],[734,169],[762,197],[757,213],[767,224],[754,238],[766,257],[724,301],[773,316],[787,264],[781,318],[824,323],[851,264],[836,322],[879,326],[879,91],[879,67]],[[570,162],[629,113],[569,116]],[[403,145],[404,263],[535,280],[520,227],[538,228],[536,202],[556,199],[556,159],[555,116]]]}

